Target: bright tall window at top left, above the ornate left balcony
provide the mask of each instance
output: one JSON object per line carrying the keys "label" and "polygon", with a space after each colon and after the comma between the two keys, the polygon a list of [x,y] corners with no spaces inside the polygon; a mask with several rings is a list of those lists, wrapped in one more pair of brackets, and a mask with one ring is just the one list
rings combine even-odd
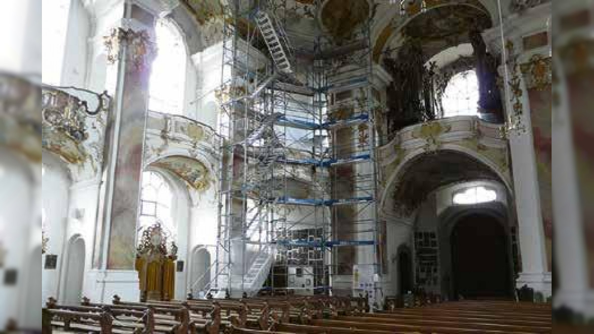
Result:
{"label": "bright tall window at top left, above the ornate left balcony", "polygon": [[42,2],[42,82],[59,85],[71,0]]}

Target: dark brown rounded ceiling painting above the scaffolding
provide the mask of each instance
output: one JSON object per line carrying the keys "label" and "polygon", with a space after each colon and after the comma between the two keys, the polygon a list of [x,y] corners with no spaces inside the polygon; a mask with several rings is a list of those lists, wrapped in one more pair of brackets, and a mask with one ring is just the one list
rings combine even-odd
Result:
{"label": "dark brown rounded ceiling painting above the scaffolding", "polygon": [[328,0],[321,7],[321,23],[336,42],[349,40],[369,17],[367,0]]}

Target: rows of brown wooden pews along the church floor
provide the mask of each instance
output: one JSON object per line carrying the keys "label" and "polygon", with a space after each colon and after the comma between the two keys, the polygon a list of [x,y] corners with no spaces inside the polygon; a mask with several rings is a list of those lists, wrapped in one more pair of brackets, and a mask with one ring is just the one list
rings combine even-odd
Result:
{"label": "rows of brown wooden pews along the church floor", "polygon": [[369,312],[362,297],[255,297],[150,303],[122,301],[43,309],[43,332],[66,333],[551,333],[551,304],[431,303]]}

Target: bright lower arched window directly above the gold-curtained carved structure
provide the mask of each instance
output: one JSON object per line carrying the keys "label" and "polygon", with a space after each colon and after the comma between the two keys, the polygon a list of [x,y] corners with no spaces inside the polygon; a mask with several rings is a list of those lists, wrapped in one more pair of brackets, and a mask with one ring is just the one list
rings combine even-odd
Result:
{"label": "bright lower arched window directly above the gold-curtained carved structure", "polygon": [[138,233],[141,234],[144,228],[159,220],[170,240],[175,240],[177,226],[172,218],[172,200],[173,193],[163,176],[154,171],[143,172]]}

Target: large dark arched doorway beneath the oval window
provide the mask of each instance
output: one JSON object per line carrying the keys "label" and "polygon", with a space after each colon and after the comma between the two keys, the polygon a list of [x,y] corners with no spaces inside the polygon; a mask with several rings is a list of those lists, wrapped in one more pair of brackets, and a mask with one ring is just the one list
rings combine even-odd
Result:
{"label": "large dark arched doorway beneath the oval window", "polygon": [[506,298],[511,294],[508,238],[496,218],[470,214],[451,232],[454,297]]}

